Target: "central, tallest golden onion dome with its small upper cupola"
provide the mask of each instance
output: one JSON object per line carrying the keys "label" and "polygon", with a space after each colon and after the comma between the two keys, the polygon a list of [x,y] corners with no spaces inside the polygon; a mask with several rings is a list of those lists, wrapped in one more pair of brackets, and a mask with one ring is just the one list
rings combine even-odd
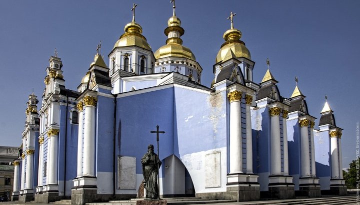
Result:
{"label": "central, tallest golden onion dome with its small upper cupola", "polygon": [[[178,32],[178,36],[169,34],[171,31]],[[184,34],[184,29],[181,27],[181,20],[176,15],[172,15],[167,21],[167,27],[164,33],[168,38],[166,45],[161,46],[154,53],[155,59],[164,57],[180,57],[195,61],[195,55],[191,50],[182,45],[181,35]]]}

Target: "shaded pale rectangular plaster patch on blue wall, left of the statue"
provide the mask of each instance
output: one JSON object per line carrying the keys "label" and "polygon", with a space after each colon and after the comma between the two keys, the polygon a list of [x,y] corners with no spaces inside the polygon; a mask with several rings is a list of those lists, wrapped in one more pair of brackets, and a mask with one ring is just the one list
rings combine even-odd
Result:
{"label": "shaded pale rectangular plaster patch on blue wall, left of the statue", "polygon": [[117,188],[123,190],[134,190],[136,183],[136,158],[117,158]]}

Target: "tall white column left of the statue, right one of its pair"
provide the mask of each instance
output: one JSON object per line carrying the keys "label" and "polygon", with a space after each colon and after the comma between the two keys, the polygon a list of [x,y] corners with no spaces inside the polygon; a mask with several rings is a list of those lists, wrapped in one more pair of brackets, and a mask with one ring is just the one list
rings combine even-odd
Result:
{"label": "tall white column left of the statue, right one of its pair", "polygon": [[95,106],[97,99],[84,97],[83,176],[95,176]]}

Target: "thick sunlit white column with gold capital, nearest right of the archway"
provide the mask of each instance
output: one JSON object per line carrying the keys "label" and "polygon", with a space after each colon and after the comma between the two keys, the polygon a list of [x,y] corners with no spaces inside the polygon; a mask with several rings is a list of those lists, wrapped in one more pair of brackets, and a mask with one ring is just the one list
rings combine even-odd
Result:
{"label": "thick sunlit white column with gold capital, nearest right of the archway", "polygon": [[236,90],[227,94],[230,102],[230,174],[242,173],[241,95]]}

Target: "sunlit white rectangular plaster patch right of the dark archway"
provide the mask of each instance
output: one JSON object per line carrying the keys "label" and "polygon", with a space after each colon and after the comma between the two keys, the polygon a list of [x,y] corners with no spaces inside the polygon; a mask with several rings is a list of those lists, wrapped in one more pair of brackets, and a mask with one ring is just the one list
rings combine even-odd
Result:
{"label": "sunlit white rectangular plaster patch right of the dark archway", "polygon": [[205,188],[221,187],[220,152],[205,155]]}

